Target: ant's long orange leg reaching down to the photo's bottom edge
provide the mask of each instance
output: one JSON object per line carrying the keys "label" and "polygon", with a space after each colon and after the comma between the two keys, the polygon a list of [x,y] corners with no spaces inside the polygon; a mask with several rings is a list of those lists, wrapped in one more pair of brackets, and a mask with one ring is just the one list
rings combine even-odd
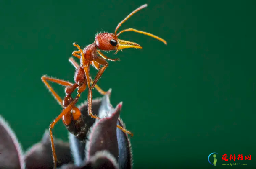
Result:
{"label": "ant's long orange leg reaching down to the photo's bottom edge", "polygon": [[62,110],[61,114],[58,115],[57,118],[55,118],[55,120],[53,120],[53,123],[50,124],[49,126],[49,131],[50,131],[50,139],[51,139],[51,146],[52,146],[52,151],[53,151],[53,161],[54,161],[54,168],[57,167],[57,155],[56,155],[56,151],[55,151],[55,147],[54,147],[54,143],[53,143],[53,127],[54,125],[58,122],[58,120],[60,120],[63,115],[66,115],[66,113],[69,113],[72,108],[74,108],[75,104],[77,103],[78,99],[80,97],[80,94],[78,93],[77,96],[75,97],[75,99],[66,107],[64,108],[64,110]]}

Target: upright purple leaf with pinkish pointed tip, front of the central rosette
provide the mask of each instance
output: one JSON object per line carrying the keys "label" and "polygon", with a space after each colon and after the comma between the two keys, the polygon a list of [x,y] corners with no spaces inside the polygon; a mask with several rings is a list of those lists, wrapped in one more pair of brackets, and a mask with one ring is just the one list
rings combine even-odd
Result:
{"label": "upright purple leaf with pinkish pointed tip, front of the central rosette", "polygon": [[116,159],[118,159],[118,143],[116,137],[116,124],[120,114],[122,103],[117,105],[108,117],[97,120],[92,126],[87,141],[87,160],[97,153],[97,151],[108,150]]}

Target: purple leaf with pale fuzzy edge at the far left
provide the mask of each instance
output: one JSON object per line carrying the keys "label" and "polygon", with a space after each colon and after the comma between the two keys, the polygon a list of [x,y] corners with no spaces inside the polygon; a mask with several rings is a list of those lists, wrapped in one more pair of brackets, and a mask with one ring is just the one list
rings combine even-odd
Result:
{"label": "purple leaf with pale fuzzy edge at the far left", "polygon": [[0,169],[25,169],[15,133],[0,115]]}

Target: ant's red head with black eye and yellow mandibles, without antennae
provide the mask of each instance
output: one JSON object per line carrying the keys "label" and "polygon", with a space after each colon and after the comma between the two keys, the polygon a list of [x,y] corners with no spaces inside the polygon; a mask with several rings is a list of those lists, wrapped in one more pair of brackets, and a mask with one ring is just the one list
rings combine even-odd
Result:
{"label": "ant's red head with black eye and yellow mandibles, without antennae", "polygon": [[98,49],[104,51],[121,50],[124,48],[142,48],[140,45],[118,39],[113,33],[99,33],[95,36]]}

